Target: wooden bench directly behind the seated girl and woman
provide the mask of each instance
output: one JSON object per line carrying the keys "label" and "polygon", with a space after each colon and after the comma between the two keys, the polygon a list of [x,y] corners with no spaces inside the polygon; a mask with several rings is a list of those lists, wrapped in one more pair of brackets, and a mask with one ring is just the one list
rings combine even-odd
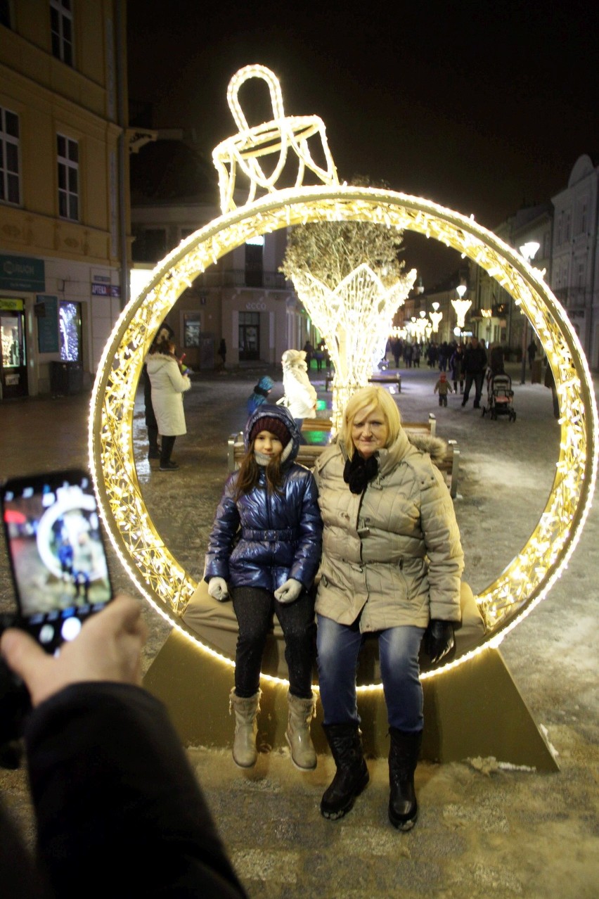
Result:
{"label": "wooden bench directly behind the seated girl and woman", "polygon": [[[409,433],[427,433],[436,436],[436,417],[429,414],[427,422],[402,422],[402,427]],[[316,459],[321,455],[322,450],[328,445],[330,439],[330,420],[328,418],[306,418],[302,432],[306,434],[322,435],[323,440],[319,442],[301,444],[295,461],[306,468],[313,468]],[[457,441],[449,440],[447,442],[447,450],[445,458],[437,463],[437,467],[445,477],[445,484],[449,489],[452,499],[457,495],[458,476],[460,472],[460,448]],[[235,471],[242,463],[245,455],[243,446],[243,434],[238,432],[231,434],[227,443],[227,469],[229,473]]]}

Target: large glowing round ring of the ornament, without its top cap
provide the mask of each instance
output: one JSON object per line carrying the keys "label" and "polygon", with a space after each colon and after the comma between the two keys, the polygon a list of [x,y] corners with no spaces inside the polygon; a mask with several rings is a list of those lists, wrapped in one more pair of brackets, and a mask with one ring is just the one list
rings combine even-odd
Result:
{"label": "large glowing round ring of the ornament, without its top cap", "polygon": [[[92,391],[90,464],[102,519],[137,589],[198,647],[233,665],[218,647],[207,646],[181,625],[180,616],[198,584],[164,545],[145,509],[133,456],[137,383],[164,316],[210,264],[253,236],[306,222],[341,220],[368,220],[433,237],[479,264],[533,324],[559,394],[559,459],[545,509],[525,546],[476,598],[487,634],[471,653],[424,672],[424,678],[466,661],[485,646],[498,645],[547,595],[577,545],[595,489],[597,410],[577,335],[542,272],[473,218],[394,191],[333,185],[275,191],[214,219],[156,266],[148,285],[119,317]],[[360,689],[382,688],[377,684]]]}

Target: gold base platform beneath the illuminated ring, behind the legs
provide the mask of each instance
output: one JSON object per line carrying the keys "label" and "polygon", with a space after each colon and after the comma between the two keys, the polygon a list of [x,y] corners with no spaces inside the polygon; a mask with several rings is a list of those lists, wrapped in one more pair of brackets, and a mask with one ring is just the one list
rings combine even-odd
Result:
{"label": "gold base platform beneath the illuminated ring, behind the legs", "polygon": [[[233,741],[229,693],[233,667],[219,663],[173,630],[145,675],[144,686],[169,709],[184,745],[228,747]],[[549,743],[526,706],[498,649],[483,649],[473,659],[423,681],[425,728],[421,758],[462,761],[494,756],[497,761],[539,771],[558,771]],[[286,745],[286,685],[262,679],[258,719],[259,748]],[[361,692],[365,752],[389,751],[382,690]],[[313,743],[329,752],[316,706]]]}

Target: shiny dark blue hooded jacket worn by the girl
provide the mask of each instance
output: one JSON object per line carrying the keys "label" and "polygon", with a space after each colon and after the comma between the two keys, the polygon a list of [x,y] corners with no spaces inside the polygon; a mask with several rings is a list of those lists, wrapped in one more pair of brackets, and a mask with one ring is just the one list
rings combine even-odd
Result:
{"label": "shiny dark blue hooded jacket worn by the girl", "polygon": [[264,404],[251,414],[245,428],[245,447],[255,421],[281,418],[292,435],[292,449],[283,466],[280,494],[269,494],[266,475],[249,494],[235,500],[238,472],[225,484],[208,540],[204,579],[222,577],[231,587],[262,587],[274,592],[293,577],[312,586],[322,550],[322,520],[313,474],[294,461],[299,432],[283,406]]}

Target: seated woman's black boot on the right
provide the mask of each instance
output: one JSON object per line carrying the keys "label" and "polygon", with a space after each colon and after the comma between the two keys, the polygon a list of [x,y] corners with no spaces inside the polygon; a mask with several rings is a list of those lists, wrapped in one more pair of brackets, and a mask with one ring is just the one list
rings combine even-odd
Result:
{"label": "seated woman's black boot on the right", "polygon": [[422,731],[410,733],[390,727],[389,820],[393,827],[409,831],[418,818],[414,772],[422,745]]}

